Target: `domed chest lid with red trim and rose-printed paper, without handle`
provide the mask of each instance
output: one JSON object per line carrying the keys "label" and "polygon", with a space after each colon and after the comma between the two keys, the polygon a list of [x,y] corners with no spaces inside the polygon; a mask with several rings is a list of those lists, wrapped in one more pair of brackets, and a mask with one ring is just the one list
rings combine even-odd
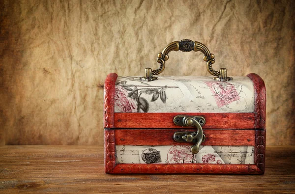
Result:
{"label": "domed chest lid with red trim and rose-printed paper, without handle", "polygon": [[210,77],[166,76],[152,82],[108,75],[105,128],[179,128],[179,114],[204,116],[204,129],[265,128],[266,90],[257,74],[230,82]]}

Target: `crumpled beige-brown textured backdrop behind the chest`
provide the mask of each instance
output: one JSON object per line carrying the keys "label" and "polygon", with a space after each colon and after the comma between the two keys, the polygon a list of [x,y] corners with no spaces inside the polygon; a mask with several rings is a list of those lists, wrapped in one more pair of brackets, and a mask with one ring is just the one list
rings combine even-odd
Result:
{"label": "crumpled beige-brown textured backdrop behind the chest", "polygon": [[[295,145],[293,0],[2,0],[0,144],[103,144],[108,73],[142,75],[185,38],[214,69],[259,74],[267,144]],[[209,76],[201,53],[173,52],[163,75]]]}

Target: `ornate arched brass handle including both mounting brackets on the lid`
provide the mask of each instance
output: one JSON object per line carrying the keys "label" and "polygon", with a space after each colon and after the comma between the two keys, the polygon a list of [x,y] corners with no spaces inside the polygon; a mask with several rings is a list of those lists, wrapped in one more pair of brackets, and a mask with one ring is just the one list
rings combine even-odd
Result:
{"label": "ornate arched brass handle including both mounting brackets on the lid", "polygon": [[152,81],[152,80],[157,80],[156,77],[153,75],[159,75],[162,73],[165,69],[165,61],[169,59],[169,53],[171,51],[182,51],[182,52],[190,52],[190,51],[201,51],[204,54],[203,59],[207,61],[207,71],[212,75],[212,76],[217,76],[214,79],[219,80],[219,81],[228,81],[232,80],[232,78],[227,77],[227,70],[225,68],[221,68],[218,71],[215,71],[212,68],[212,64],[215,62],[215,56],[210,53],[208,48],[200,43],[200,42],[194,42],[189,39],[184,39],[181,41],[174,41],[167,45],[162,53],[159,53],[157,55],[157,62],[160,63],[160,67],[156,70],[151,70],[151,68],[146,68],[145,70],[145,76],[141,77],[140,80],[144,81]]}

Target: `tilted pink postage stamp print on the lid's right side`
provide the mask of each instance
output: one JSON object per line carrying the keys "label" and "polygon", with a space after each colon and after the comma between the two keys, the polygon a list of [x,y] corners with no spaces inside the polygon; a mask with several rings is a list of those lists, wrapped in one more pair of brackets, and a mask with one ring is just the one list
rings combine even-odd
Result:
{"label": "tilted pink postage stamp print on the lid's right side", "polygon": [[218,108],[240,100],[239,93],[242,90],[240,84],[224,82],[205,82],[209,86]]}

